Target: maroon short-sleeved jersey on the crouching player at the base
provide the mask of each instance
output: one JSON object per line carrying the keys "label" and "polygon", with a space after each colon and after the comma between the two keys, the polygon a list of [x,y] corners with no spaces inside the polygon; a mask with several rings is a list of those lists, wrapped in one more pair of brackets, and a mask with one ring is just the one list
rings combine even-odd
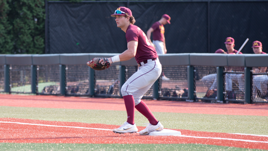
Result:
{"label": "maroon short-sleeved jersey on the crouching player at the base", "polygon": [[147,36],[138,26],[132,24],[128,26],[126,31],[126,39],[127,42],[132,40],[138,41],[137,52],[135,55],[137,63],[158,57],[155,48],[150,44]]}

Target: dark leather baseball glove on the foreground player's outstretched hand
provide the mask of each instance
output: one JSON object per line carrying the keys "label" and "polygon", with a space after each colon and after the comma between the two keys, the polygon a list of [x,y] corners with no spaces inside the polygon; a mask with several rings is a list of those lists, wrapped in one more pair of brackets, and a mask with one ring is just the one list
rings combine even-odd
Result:
{"label": "dark leather baseball glove on the foreground player's outstretched hand", "polygon": [[[100,59],[103,59],[101,63],[99,63]],[[86,62],[86,64],[95,70],[104,70],[111,65],[108,58],[94,58],[91,61]]]}

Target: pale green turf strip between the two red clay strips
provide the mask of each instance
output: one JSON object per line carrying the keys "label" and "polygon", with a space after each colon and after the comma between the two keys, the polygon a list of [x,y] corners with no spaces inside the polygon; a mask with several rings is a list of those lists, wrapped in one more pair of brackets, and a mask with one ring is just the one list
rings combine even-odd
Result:
{"label": "pale green turf strip between the two red clay strips", "polygon": [[[153,114],[165,128],[268,135],[268,116],[165,112],[153,112]],[[7,117],[121,125],[126,121],[127,114],[126,111],[0,106],[0,118]],[[135,123],[137,126],[146,126],[144,123],[148,123],[148,120],[139,112],[135,112]]]}

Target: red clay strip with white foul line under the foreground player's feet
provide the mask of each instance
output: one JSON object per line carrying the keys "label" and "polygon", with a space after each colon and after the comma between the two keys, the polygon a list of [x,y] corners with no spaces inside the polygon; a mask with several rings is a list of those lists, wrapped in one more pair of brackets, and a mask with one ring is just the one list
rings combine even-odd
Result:
{"label": "red clay strip with white foul line under the foreground player's feet", "polygon": [[[59,126],[91,127],[114,129],[117,125],[87,124],[77,122],[42,121],[16,118],[0,118],[0,121],[35,123]],[[245,142],[211,138],[189,138],[181,136],[142,136],[138,133],[117,134],[110,130],[79,129],[70,127],[49,127],[40,125],[22,125],[0,123],[0,142],[13,143],[199,143],[242,148],[268,149],[267,137],[245,136],[228,133],[200,132],[176,129],[188,136],[220,137],[262,142]],[[144,127],[138,126],[138,129]],[[266,141],[264,143],[263,141]]]}

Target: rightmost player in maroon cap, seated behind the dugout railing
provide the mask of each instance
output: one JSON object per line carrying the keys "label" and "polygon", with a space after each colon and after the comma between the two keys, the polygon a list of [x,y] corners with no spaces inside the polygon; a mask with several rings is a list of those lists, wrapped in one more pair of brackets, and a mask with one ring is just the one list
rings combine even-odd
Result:
{"label": "rightmost player in maroon cap, seated behind the dugout railing", "polygon": [[[253,41],[252,47],[255,54],[266,54],[262,51],[262,44],[260,41]],[[253,67],[253,73],[264,73],[267,67]],[[267,75],[253,75],[253,99],[254,101],[267,101]],[[259,91],[259,95],[258,95]],[[259,96],[259,97],[258,97]]]}

